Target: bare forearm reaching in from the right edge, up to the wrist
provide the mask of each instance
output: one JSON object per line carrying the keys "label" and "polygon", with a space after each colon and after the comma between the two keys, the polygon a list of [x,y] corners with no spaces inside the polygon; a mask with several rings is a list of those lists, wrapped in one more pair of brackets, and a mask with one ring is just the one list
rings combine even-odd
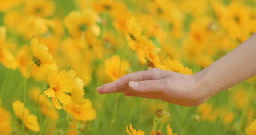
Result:
{"label": "bare forearm reaching in from the right edge, up to the wrist", "polygon": [[196,74],[210,96],[256,75],[256,34]]}

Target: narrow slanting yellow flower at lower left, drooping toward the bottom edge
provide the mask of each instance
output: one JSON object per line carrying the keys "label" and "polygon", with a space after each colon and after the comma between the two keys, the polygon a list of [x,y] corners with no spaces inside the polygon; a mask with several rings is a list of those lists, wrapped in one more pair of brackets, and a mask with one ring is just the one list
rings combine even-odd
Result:
{"label": "narrow slanting yellow flower at lower left, drooping toward the bottom edge", "polygon": [[33,132],[40,131],[36,115],[30,114],[30,111],[26,107],[24,108],[24,104],[20,100],[14,101],[12,108],[16,116],[24,123],[25,127]]}

